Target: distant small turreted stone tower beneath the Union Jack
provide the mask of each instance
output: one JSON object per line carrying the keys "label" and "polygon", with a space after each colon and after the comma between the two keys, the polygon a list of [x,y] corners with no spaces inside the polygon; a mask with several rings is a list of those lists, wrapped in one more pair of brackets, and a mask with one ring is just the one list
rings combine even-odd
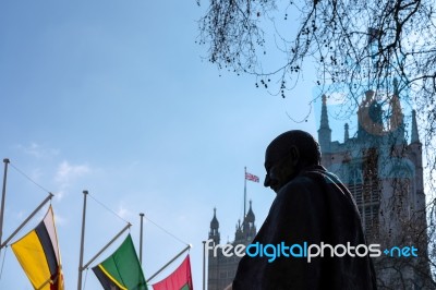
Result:
{"label": "distant small turreted stone tower beneath the Union Jack", "polygon": [[[214,217],[210,221],[209,240],[214,241],[214,244],[219,244],[219,222],[216,215],[216,208],[214,208]],[[250,201],[250,208],[246,213],[244,221],[241,225],[241,220],[237,223],[234,233],[234,241],[228,242],[233,246],[237,244],[250,244],[256,235],[256,226],[254,225],[255,216],[252,209],[252,202]],[[222,290],[229,283],[233,281],[237,274],[238,264],[241,257],[233,255],[226,257],[222,255],[222,251],[217,251],[217,255],[214,255],[214,251],[208,252],[208,266],[207,266],[207,289],[208,290]]]}

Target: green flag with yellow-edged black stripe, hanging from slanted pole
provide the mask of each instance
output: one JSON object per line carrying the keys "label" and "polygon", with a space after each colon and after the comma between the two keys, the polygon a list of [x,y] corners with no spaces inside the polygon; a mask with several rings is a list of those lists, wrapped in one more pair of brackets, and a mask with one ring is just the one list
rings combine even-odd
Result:
{"label": "green flag with yellow-edged black stripe, hanging from slanted pole", "polygon": [[117,251],[107,259],[95,266],[93,271],[104,289],[147,289],[143,269],[130,233]]}

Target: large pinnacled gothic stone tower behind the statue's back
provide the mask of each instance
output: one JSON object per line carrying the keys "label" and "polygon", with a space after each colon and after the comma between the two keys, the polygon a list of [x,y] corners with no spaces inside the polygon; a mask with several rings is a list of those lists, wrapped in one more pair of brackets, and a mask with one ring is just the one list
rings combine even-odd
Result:
{"label": "large pinnacled gothic stone tower behind the statue's back", "polygon": [[379,289],[426,289],[428,277],[424,276],[429,275],[429,268],[422,144],[414,111],[411,141],[407,141],[397,86],[388,101],[389,120],[384,122],[376,94],[366,92],[358,110],[358,132],[350,137],[346,123],[341,143],[331,141],[327,98],[323,96],[318,130],[322,164],[353,194],[368,243],[380,244],[382,251],[391,246],[419,247],[417,258],[382,254],[374,261]]}

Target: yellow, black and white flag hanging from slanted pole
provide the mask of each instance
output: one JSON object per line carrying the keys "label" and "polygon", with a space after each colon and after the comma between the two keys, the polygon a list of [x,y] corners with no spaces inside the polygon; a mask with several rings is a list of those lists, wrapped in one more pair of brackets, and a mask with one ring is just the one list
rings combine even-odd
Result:
{"label": "yellow, black and white flag hanging from slanted pole", "polygon": [[64,289],[51,205],[43,221],[11,247],[34,289]]}

